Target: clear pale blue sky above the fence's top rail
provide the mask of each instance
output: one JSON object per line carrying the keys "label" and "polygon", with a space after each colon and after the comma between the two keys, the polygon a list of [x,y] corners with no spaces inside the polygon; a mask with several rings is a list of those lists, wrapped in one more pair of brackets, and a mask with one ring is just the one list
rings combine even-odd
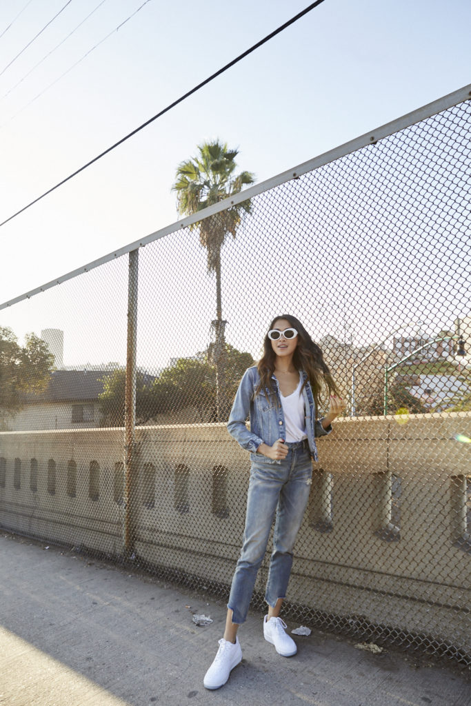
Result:
{"label": "clear pale blue sky above the fence's top rail", "polygon": [[[0,4],[0,220],[309,4],[143,3],[71,0],[8,68],[66,0]],[[468,0],[326,0],[2,227],[0,302],[177,220],[175,168],[203,140],[263,181],[461,88],[470,20]]]}

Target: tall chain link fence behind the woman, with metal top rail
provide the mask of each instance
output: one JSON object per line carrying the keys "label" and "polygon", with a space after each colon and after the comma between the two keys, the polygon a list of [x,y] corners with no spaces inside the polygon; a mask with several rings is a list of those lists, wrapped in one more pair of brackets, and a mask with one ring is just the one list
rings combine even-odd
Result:
{"label": "tall chain link fence behind the woman, with metal top rail", "polygon": [[2,305],[1,526],[227,599],[249,455],[225,421],[292,313],[347,410],[288,613],[471,664],[469,89]]}

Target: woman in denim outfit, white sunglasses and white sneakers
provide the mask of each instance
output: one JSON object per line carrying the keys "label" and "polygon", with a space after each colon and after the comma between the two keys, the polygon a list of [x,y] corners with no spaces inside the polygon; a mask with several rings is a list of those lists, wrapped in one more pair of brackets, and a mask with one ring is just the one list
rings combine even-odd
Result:
{"label": "woman in denim outfit, white sunglasses and white sneakers", "polygon": [[[328,414],[316,420],[321,390],[330,395]],[[244,623],[258,568],[276,513],[273,554],[266,585],[268,614],[263,636],[283,657],[296,643],[279,617],[292,566],[292,549],[311,489],[316,436],[328,434],[345,409],[321,349],[294,316],[278,316],[263,344],[258,366],[244,373],[227,423],[229,433],[251,453],[244,543],[227,604],[225,633],[205,674],[204,686],[217,689],[242,660],[237,629]],[[246,419],[250,417],[250,431]]]}

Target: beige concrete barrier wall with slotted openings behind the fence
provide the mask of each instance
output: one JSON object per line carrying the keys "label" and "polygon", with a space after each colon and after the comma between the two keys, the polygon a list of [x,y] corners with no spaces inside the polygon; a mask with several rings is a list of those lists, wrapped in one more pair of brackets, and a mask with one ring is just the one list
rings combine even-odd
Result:
{"label": "beige concrete barrier wall with slotted openings behind the fence", "polygon": [[[346,419],[319,440],[290,602],[430,635],[471,654],[471,444],[457,434],[471,436],[470,413],[411,416],[407,424]],[[1,525],[122,554],[123,438],[122,429],[0,433]],[[249,455],[222,424],[140,428],[136,454],[137,556],[227,594]]]}

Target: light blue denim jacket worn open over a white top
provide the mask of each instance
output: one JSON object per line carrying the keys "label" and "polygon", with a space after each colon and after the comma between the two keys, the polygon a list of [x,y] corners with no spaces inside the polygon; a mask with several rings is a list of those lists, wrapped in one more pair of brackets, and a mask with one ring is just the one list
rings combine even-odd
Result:
{"label": "light blue denim jacket worn open over a white top", "polygon": [[[302,382],[307,376],[304,371],[300,372]],[[234,437],[242,448],[256,453],[256,450],[261,443],[266,443],[272,446],[277,439],[286,438],[285,417],[281,406],[280,387],[278,380],[272,376],[275,383],[275,395],[269,394],[268,390],[261,390],[258,395],[255,394],[260,376],[258,370],[254,366],[245,371],[244,376],[239,384],[239,389],[232,405],[227,429],[229,434]],[[332,431],[332,426],[324,429],[321,424],[321,419],[316,419],[316,408],[314,406],[314,396],[312,394],[309,380],[304,386],[302,393],[304,395],[304,409],[306,410],[306,434],[309,443],[309,451],[314,461],[318,460],[316,448],[316,436],[323,436]],[[247,429],[245,421],[250,419],[250,431]],[[273,461],[266,456],[258,454],[257,460],[265,460],[268,463],[280,463]]]}

